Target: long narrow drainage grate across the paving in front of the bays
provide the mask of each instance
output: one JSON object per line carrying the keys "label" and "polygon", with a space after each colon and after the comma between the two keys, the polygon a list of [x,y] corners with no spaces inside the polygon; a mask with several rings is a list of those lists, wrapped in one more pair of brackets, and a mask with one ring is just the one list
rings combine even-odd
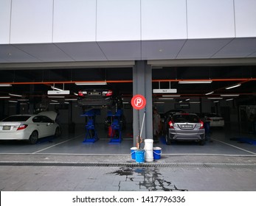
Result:
{"label": "long narrow drainage grate across the paving in front of the bays", "polygon": [[0,166],[83,166],[127,168],[256,168],[249,163],[84,163],[84,162],[28,162],[0,161]]}

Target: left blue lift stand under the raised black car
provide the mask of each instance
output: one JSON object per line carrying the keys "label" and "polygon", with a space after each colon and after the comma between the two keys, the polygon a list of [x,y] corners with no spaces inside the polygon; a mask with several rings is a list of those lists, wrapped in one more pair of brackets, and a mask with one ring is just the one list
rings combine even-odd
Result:
{"label": "left blue lift stand under the raised black car", "polygon": [[97,136],[97,131],[95,129],[94,120],[95,116],[100,115],[100,110],[89,110],[85,114],[81,116],[86,116],[87,124],[86,124],[86,138],[84,139],[83,143],[94,143],[98,141],[99,138]]}

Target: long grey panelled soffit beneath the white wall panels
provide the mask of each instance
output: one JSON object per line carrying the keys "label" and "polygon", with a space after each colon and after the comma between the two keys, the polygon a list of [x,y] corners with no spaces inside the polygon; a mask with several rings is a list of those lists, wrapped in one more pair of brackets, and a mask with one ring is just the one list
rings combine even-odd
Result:
{"label": "long grey panelled soffit beneath the white wall panels", "polygon": [[256,38],[1,44],[0,63],[255,57]]}

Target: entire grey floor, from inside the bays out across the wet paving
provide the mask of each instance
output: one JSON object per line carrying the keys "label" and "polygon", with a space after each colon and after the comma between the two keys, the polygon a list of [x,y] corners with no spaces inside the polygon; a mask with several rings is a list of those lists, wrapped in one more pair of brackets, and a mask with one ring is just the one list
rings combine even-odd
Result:
{"label": "entire grey floor, from inside the bays out across the wet paving", "polygon": [[[118,144],[109,143],[106,133],[99,132],[99,141],[86,144],[83,128],[75,134],[64,129],[60,138],[35,145],[1,142],[0,191],[256,191],[256,145],[231,140],[255,135],[212,129],[212,142],[204,146],[167,146],[160,138],[153,145],[162,148],[160,160],[130,166],[131,132],[124,131]],[[52,162],[57,164],[48,164]]]}

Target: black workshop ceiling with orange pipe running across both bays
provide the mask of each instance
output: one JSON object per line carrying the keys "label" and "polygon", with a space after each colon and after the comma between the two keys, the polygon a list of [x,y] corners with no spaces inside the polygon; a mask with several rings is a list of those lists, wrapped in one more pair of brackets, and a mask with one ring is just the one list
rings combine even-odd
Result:
{"label": "black workshop ceiling with orange pipe running across both bays", "polygon": [[[18,93],[23,96],[46,96],[47,90],[55,83],[59,88],[79,90],[75,81],[110,81],[120,93],[132,95],[132,68],[64,68],[0,70],[0,82],[12,82],[12,87],[1,87],[0,96]],[[256,66],[207,66],[207,67],[165,67],[153,69],[153,88],[176,88],[177,93],[187,97],[205,97],[223,93],[240,94],[239,99],[248,99],[256,94]],[[179,79],[212,79],[211,84],[181,85]],[[117,81],[117,82],[116,82]],[[70,82],[70,83],[69,83]],[[225,90],[225,87],[241,83],[241,87]],[[157,96],[157,94],[156,94]],[[160,95],[158,95],[160,96]]]}

